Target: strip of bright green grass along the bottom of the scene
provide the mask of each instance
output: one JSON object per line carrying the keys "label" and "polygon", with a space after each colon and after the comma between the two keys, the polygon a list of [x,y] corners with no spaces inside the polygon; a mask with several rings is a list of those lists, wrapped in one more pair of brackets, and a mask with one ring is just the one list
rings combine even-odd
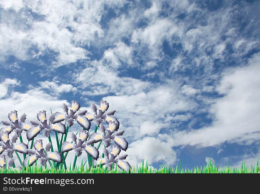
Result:
{"label": "strip of bright green grass along the bottom of the scene", "polygon": [[[76,166],[75,169],[73,167],[69,167],[68,169],[62,168],[48,168],[48,167],[37,167],[36,164],[32,165],[32,167],[25,168],[2,168],[0,169],[0,173],[127,173],[117,166],[113,169],[109,169],[106,166],[103,167],[84,167],[85,164],[81,164]],[[162,165],[159,169],[155,169],[149,167],[148,162],[142,165],[132,167],[131,173],[260,173],[258,161],[256,166],[246,167],[245,164],[242,163],[241,168],[229,167],[228,164],[226,167],[217,167],[212,165],[209,162],[206,166],[203,167],[194,167],[193,169],[183,169],[181,168],[181,163],[177,163],[176,167],[165,166]]]}

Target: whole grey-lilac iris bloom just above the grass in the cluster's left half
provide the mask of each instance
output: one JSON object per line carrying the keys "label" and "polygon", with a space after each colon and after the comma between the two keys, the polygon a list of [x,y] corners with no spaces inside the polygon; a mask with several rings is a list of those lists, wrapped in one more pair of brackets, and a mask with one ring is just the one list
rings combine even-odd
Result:
{"label": "whole grey-lilac iris bloom just above the grass in the cluster's left half", "polygon": [[45,166],[48,159],[61,163],[62,157],[58,151],[50,152],[51,143],[48,143],[45,146],[46,153],[43,152],[43,140],[39,139],[33,143],[34,149],[27,149],[27,152],[31,154],[31,156],[27,156],[23,161],[23,166],[27,165],[32,166],[38,160],[41,165]]}

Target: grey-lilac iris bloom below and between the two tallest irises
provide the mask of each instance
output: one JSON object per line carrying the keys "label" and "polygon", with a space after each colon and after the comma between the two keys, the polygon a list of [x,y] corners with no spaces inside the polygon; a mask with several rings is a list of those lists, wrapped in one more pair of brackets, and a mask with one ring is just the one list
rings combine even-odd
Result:
{"label": "grey-lilac iris bloom below and between the two tallest irises", "polygon": [[[87,141],[87,138],[88,141]],[[76,152],[77,156],[80,156],[82,154],[82,151],[85,150],[93,159],[98,159],[99,151],[96,147],[91,146],[91,144],[97,143],[104,139],[104,137],[99,133],[87,133],[86,130],[80,130],[79,131],[79,137],[72,133],[71,139],[73,143],[69,143],[67,141],[64,141],[61,145],[61,153],[74,150]]]}

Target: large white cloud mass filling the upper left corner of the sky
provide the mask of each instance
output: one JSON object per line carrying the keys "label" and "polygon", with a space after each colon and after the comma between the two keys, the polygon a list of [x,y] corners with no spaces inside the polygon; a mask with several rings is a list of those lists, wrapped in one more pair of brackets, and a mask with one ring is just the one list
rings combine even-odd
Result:
{"label": "large white cloud mass filling the upper left corner of the sky", "polygon": [[[26,4],[22,1],[1,1],[5,10],[19,10],[19,16],[22,17],[16,15],[14,21],[1,23],[0,59],[4,60],[9,55],[20,60],[38,59],[50,50],[56,53],[56,58],[52,61],[52,65],[56,67],[87,59],[89,52],[83,47],[90,46],[95,39],[104,35],[99,24],[104,7],[123,5],[124,1],[58,0]],[[32,13],[27,12],[27,9],[31,9],[40,18],[33,19]],[[7,14],[13,16],[13,13],[6,12],[5,15]],[[38,51],[33,53],[32,47],[35,46]]]}

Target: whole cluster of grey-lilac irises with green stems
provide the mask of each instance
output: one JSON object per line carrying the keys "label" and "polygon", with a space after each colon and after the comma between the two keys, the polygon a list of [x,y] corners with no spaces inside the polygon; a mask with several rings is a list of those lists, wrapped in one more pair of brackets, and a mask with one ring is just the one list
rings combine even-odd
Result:
{"label": "whole cluster of grey-lilac irises with green stems", "polygon": [[[89,166],[107,165],[112,168],[117,165],[129,172],[130,165],[125,161],[127,154],[121,153],[121,150],[126,151],[128,142],[122,137],[124,130],[119,130],[119,121],[113,116],[116,110],[108,111],[108,107],[109,103],[101,100],[99,107],[91,104],[92,113],[89,113],[87,110],[80,110],[80,104],[72,100],[71,107],[63,104],[64,113],[53,113],[47,119],[46,111],[43,110],[37,113],[37,121],[31,120],[29,123],[25,122],[26,114],[18,119],[17,111],[11,111],[8,114],[9,121],[2,121],[5,127],[0,129],[0,167],[15,167],[14,159],[17,157],[20,162],[19,167],[26,168],[38,161],[43,166],[48,162],[51,167],[58,168],[64,165],[66,169],[66,156],[69,151],[74,150],[73,168],[77,157],[85,151]],[[65,124],[62,123],[64,121]],[[90,133],[91,122],[95,123],[95,130],[92,133]],[[67,134],[74,123],[79,124],[82,129],[76,134],[71,133],[72,141],[68,142]],[[53,150],[51,131],[55,132],[56,151]],[[34,141],[41,132],[49,140],[44,147],[42,139]],[[9,138],[11,133],[12,137]],[[23,142],[22,133],[26,133],[28,144]],[[61,138],[58,137],[58,133],[61,134]],[[17,143],[18,138],[20,143]],[[98,150],[102,142],[105,145],[100,156]],[[96,143],[98,146],[95,146]],[[111,150],[111,153],[108,150]],[[23,154],[23,161],[17,152]]]}

